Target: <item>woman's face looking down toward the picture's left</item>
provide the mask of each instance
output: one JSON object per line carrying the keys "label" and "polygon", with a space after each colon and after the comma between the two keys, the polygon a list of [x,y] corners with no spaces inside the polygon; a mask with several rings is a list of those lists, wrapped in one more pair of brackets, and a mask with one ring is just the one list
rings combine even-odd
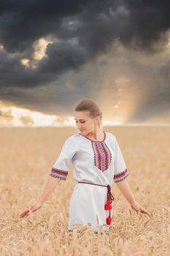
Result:
{"label": "woman's face looking down toward the picture's left", "polygon": [[74,119],[76,121],[77,129],[83,135],[93,132],[98,128],[99,116],[96,118],[91,118],[88,111],[75,111]]}

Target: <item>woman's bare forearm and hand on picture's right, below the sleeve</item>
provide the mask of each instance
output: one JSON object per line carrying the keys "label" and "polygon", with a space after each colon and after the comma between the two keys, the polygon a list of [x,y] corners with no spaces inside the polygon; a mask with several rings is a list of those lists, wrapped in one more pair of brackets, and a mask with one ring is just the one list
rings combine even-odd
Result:
{"label": "woman's bare forearm and hand on picture's right, below the sleeve", "polygon": [[128,203],[130,204],[131,208],[133,208],[136,212],[141,212],[142,214],[147,214],[148,216],[152,216],[150,212],[148,212],[146,209],[144,209],[142,206],[139,205],[139,203],[136,202],[134,195],[131,192],[130,187],[128,186],[128,181],[126,178],[123,181],[116,182],[117,187],[119,187],[120,191],[123,193],[126,200],[128,200]]}

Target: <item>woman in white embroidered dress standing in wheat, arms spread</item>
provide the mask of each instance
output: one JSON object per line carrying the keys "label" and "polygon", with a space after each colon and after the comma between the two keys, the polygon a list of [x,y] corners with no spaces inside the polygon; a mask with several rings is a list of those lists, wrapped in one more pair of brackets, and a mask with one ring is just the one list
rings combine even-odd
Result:
{"label": "woman in white embroidered dress standing in wheat, arms spread", "polygon": [[92,99],[81,99],[74,106],[74,118],[79,133],[70,136],[61,154],[50,170],[44,189],[33,206],[20,214],[27,217],[38,210],[53,192],[59,181],[66,181],[69,166],[74,165],[74,187],[69,209],[68,231],[79,230],[80,225],[90,225],[94,233],[103,227],[109,234],[112,222],[112,181],[136,212],[152,216],[136,202],[128,187],[128,169],[115,135],[100,129],[102,113]]}

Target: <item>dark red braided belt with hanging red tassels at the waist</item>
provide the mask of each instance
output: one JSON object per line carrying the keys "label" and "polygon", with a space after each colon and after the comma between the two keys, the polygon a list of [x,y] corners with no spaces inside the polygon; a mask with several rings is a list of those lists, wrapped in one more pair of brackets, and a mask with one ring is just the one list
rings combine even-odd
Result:
{"label": "dark red braided belt with hanging red tassels at the waist", "polygon": [[112,222],[112,218],[110,217],[110,210],[112,209],[112,201],[115,200],[111,192],[111,187],[109,185],[95,184],[95,183],[90,183],[86,181],[78,181],[78,183],[85,183],[85,184],[91,184],[91,185],[96,185],[101,187],[107,187],[107,203],[105,203],[104,209],[105,211],[109,210],[109,217],[107,217],[107,224],[110,225]]}

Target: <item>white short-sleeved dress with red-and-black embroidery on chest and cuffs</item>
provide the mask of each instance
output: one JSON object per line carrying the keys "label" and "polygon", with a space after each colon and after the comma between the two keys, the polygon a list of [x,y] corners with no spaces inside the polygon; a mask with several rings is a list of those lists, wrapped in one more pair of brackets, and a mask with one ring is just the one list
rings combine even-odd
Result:
{"label": "white short-sleeved dress with red-and-black embroidery on chest and cuffs", "polygon": [[[110,132],[104,132],[101,141],[91,140],[81,133],[71,135],[63,144],[50,176],[66,181],[71,163],[76,181],[111,186],[113,181],[123,181],[129,175],[117,139]],[[90,223],[94,232],[101,226],[109,231],[106,222],[109,211],[104,210],[106,202],[107,187],[77,183],[70,201],[68,230]]]}

